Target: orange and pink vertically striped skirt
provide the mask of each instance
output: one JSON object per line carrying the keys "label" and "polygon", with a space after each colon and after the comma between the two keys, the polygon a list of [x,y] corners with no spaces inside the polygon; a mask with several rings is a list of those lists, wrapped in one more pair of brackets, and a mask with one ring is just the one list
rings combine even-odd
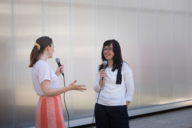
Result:
{"label": "orange and pink vertically striped skirt", "polygon": [[36,111],[36,128],[65,128],[61,96],[40,96]]}

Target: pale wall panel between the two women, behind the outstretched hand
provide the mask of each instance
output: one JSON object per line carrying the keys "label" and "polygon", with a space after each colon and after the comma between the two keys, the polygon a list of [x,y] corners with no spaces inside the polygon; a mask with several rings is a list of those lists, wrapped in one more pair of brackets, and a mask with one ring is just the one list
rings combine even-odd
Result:
{"label": "pale wall panel between the two women, behind the outstretched hand", "polygon": [[87,91],[72,92],[71,119],[93,116],[95,93],[94,0],[71,2],[71,81],[87,86]]}

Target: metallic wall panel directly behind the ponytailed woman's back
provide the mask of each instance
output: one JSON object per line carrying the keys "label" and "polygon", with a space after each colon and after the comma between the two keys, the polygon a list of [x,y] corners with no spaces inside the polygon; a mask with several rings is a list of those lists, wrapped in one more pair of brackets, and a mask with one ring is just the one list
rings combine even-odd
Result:
{"label": "metallic wall panel directly behind the ponytailed woman's back", "polygon": [[16,127],[35,125],[38,103],[28,68],[30,52],[42,35],[42,2],[14,1],[14,70]]}

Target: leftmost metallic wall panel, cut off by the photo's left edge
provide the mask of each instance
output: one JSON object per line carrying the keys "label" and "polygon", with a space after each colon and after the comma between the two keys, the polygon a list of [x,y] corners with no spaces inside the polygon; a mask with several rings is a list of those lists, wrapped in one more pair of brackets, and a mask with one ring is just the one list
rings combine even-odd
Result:
{"label": "leftmost metallic wall panel, cut off by the photo's left edge", "polygon": [[12,1],[0,2],[0,127],[14,127]]}

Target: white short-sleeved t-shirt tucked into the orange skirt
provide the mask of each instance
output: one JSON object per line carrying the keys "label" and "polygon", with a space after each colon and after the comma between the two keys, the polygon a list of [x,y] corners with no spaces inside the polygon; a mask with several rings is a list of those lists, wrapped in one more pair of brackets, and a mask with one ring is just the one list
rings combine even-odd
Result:
{"label": "white short-sleeved t-shirt tucked into the orange skirt", "polygon": [[44,95],[41,89],[41,83],[45,80],[50,81],[50,88],[59,88],[59,78],[44,60],[39,60],[33,65],[31,69],[31,77],[33,87],[38,96]]}

